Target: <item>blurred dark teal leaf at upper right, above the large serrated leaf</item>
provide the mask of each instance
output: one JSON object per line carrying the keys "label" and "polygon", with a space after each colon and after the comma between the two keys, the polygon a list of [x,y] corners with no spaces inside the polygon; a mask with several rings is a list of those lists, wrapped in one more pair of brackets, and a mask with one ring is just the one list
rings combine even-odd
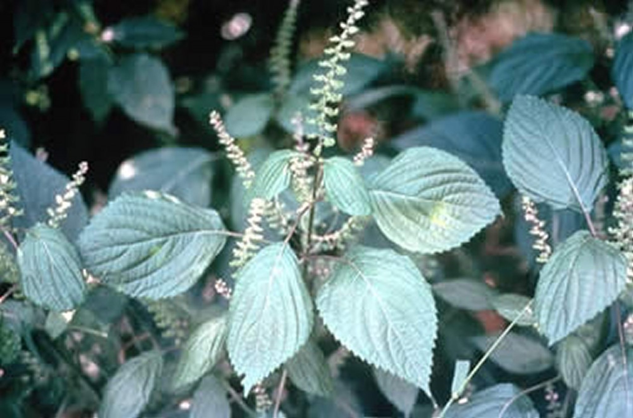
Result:
{"label": "blurred dark teal leaf at upper right, above the large serrated leaf", "polygon": [[503,102],[542,95],[582,80],[594,65],[591,44],[561,34],[527,34],[492,63],[488,82]]}

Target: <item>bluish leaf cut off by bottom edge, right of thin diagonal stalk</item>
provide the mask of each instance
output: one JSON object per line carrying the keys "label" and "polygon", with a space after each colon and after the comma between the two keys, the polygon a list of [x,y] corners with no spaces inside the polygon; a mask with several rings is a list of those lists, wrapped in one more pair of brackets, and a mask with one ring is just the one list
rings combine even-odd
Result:
{"label": "bluish leaf cut off by bottom edge, right of thin diagonal stalk", "polygon": [[519,393],[513,384],[496,384],[475,393],[466,403],[451,406],[446,418],[539,418],[529,396]]}

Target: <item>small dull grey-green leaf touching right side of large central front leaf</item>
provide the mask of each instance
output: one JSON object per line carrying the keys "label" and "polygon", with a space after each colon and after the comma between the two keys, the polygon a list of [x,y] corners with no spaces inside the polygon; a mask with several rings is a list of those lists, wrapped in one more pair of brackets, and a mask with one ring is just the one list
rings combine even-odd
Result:
{"label": "small dull grey-green leaf touching right side of large central front leaf", "polygon": [[454,307],[467,310],[492,309],[496,291],[483,281],[455,279],[433,285],[433,291]]}

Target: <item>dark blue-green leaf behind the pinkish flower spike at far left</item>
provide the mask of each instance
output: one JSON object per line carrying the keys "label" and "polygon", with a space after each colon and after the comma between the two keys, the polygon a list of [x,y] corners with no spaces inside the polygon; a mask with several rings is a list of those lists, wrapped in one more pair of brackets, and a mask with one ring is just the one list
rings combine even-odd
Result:
{"label": "dark blue-green leaf behind the pinkish flower spike at far left", "polygon": [[[56,206],[55,195],[64,193],[70,179],[36,159],[15,142],[11,144],[9,154],[13,178],[18,183],[19,205],[24,211],[22,216],[13,219],[13,226],[27,229],[49,218],[47,209]],[[84,199],[77,194],[68,210],[68,218],[61,223],[61,231],[73,241],[87,222],[88,209]]]}

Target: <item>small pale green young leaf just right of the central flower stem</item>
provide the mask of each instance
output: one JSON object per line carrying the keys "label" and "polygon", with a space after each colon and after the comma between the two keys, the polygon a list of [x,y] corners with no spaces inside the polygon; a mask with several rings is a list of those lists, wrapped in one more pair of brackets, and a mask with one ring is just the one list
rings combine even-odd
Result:
{"label": "small pale green young leaf just right of the central flower stem", "polygon": [[343,157],[332,157],[323,164],[325,195],[341,211],[356,216],[372,212],[369,194],[354,163]]}

